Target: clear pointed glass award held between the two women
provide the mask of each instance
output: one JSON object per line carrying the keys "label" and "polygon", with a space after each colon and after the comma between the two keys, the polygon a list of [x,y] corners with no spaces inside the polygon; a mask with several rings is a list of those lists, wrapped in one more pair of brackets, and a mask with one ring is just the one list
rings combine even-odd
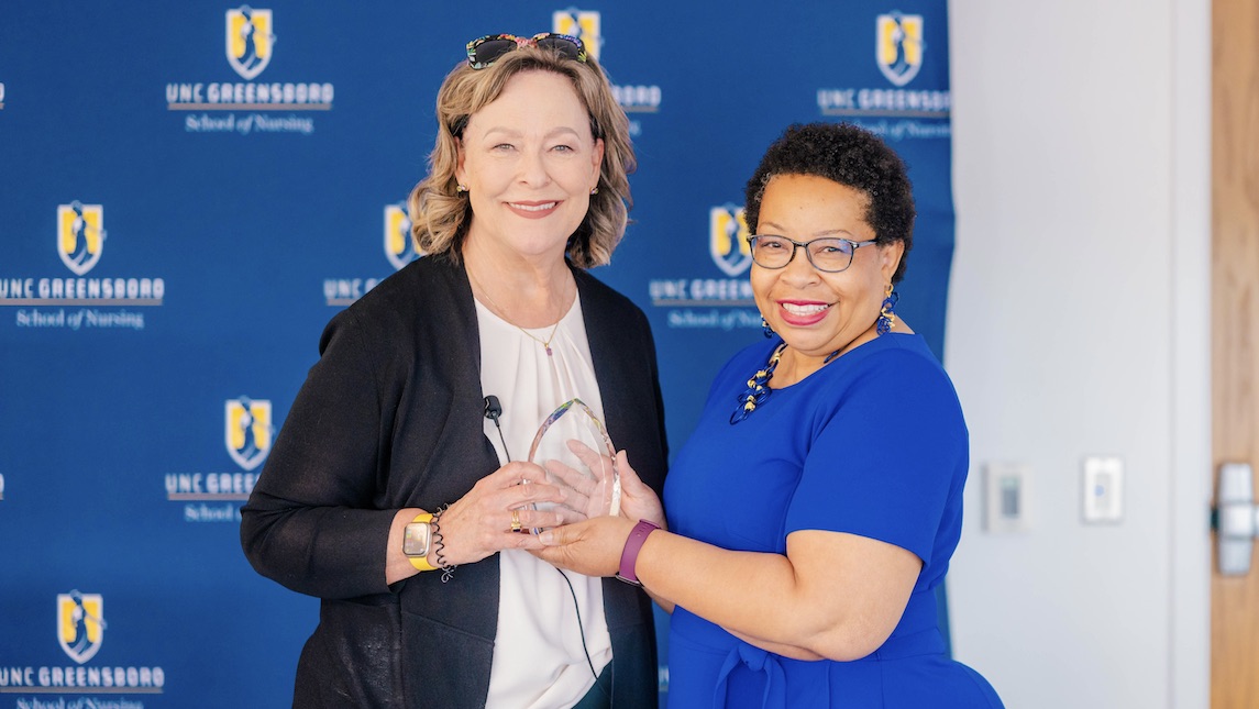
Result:
{"label": "clear pointed glass award held between the two women", "polygon": [[569,399],[551,412],[529,447],[529,462],[545,468],[551,484],[570,487],[565,506],[584,518],[621,511],[616,457],[603,422],[582,399]]}

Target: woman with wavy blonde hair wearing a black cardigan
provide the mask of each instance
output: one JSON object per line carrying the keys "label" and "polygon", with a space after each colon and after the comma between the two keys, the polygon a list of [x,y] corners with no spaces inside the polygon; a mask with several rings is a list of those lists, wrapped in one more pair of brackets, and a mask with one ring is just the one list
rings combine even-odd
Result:
{"label": "woman with wavy blonde hair wearing a black cardigan", "polygon": [[582,518],[524,461],[567,400],[632,452],[646,486],[623,509],[663,485],[651,330],[584,271],[624,233],[628,120],[575,38],[467,49],[410,196],[426,256],[329,324],[243,545],[321,599],[297,706],[653,706],[650,599],[560,572],[521,533]]}

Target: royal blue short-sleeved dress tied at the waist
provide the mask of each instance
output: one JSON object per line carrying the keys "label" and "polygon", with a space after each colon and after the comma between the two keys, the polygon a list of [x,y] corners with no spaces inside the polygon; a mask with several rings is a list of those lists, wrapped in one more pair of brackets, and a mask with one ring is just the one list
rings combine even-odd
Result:
{"label": "royal blue short-sleeved dress tied at the waist", "polygon": [[774,389],[731,424],[748,378],[779,340],[737,354],[665,482],[672,531],[783,554],[796,530],[844,531],[913,552],[923,570],[900,623],[851,662],[765,652],[679,606],[670,621],[674,708],[1000,708],[951,660],[934,589],[962,531],[968,437],[944,369],[918,335],[889,334]]}

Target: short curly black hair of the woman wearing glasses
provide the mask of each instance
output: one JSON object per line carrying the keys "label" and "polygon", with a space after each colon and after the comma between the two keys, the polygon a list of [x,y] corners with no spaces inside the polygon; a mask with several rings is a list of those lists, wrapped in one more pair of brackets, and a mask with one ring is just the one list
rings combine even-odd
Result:
{"label": "short curly black hair of the woman wearing glasses", "polygon": [[851,123],[796,123],[783,131],[748,180],[744,218],[752,230],[760,220],[760,199],[777,175],[813,175],[850,186],[869,198],[865,220],[880,243],[905,244],[893,283],[905,276],[914,244],[914,193],[905,162],[879,136]]}

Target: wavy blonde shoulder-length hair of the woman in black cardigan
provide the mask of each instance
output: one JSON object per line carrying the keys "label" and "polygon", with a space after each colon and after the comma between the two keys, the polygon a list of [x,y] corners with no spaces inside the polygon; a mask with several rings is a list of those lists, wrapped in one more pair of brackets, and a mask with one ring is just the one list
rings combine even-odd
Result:
{"label": "wavy blonde shoulder-length hair of the woman in black cardigan", "polygon": [[407,200],[412,238],[422,252],[460,261],[472,218],[471,204],[456,191],[460,137],[470,116],[499,98],[512,77],[533,71],[551,72],[573,82],[590,115],[590,131],[596,139],[603,139],[599,191],[590,195],[590,209],[569,237],[565,254],[579,268],[603,266],[612,259],[633,207],[628,175],[637,162],[630,142],[630,118],[593,57],[578,62],[536,47],[507,52],[483,69],[462,62],[442,81],[437,92],[437,142],[428,156],[428,176]]}

